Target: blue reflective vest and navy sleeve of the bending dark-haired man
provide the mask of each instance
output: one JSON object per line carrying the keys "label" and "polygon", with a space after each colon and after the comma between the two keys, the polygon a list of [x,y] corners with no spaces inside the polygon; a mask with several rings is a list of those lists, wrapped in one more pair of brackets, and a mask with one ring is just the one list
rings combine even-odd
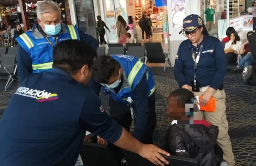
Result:
{"label": "blue reflective vest and navy sleeve of the bending dark-haired man", "polygon": [[104,88],[111,97],[126,105],[131,97],[134,101],[133,109],[136,115],[134,137],[141,140],[149,117],[148,97],[155,92],[155,81],[152,71],[139,59],[129,55],[113,55],[123,69],[122,85],[116,94],[114,89]]}

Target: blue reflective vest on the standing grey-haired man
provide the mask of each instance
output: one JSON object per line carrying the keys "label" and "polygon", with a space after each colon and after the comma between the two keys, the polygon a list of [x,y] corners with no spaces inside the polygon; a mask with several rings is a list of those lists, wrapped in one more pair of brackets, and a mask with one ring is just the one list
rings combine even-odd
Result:
{"label": "blue reflective vest on the standing grey-haired man", "polygon": [[[61,41],[73,39],[79,40],[78,29],[72,25],[65,25],[67,32],[59,33],[57,43]],[[42,71],[50,71],[52,69],[53,47],[49,42],[40,34],[40,37],[34,37],[32,30],[29,30],[16,38],[19,45],[30,55],[32,60],[33,73]],[[48,37],[49,41],[55,45],[56,37]]]}

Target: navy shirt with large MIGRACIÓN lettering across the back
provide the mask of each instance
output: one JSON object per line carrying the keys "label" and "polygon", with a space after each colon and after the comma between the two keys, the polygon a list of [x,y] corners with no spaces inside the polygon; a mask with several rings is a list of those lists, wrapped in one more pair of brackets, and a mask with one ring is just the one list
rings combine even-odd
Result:
{"label": "navy shirt with large MIGRACI\u00d3N lettering across the back", "polygon": [[86,130],[111,143],[122,133],[89,86],[57,68],[30,75],[0,121],[0,165],[75,165]]}

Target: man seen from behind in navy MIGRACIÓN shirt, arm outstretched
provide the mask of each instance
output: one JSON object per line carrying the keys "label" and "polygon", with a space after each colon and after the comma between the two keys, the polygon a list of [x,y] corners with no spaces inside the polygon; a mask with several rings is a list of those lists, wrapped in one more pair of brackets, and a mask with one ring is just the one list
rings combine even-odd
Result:
{"label": "man seen from behind in navy MIGRACI\u00d3N shirt, arm outstretched", "polygon": [[75,165],[86,130],[156,165],[168,163],[161,154],[169,153],[142,144],[104,112],[86,85],[95,56],[81,41],[63,41],[53,50],[52,71],[20,84],[0,121],[1,166]]}

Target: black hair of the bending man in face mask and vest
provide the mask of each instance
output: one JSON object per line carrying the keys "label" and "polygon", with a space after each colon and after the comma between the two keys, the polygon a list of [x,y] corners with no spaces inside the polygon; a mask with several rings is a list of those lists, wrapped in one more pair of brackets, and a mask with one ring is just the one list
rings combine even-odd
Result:
{"label": "black hair of the bending man in face mask and vest", "polygon": [[111,56],[99,56],[95,59],[93,67],[97,69],[93,73],[94,79],[98,83],[108,83],[111,76],[118,75],[119,63]]}

